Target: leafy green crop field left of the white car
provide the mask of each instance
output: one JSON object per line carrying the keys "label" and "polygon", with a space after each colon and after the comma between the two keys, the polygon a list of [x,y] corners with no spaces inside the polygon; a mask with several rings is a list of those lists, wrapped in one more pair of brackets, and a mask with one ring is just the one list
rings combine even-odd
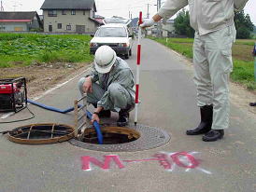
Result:
{"label": "leafy green crop field left of the white car", "polygon": [[91,36],[0,34],[0,68],[33,62],[92,62]]}

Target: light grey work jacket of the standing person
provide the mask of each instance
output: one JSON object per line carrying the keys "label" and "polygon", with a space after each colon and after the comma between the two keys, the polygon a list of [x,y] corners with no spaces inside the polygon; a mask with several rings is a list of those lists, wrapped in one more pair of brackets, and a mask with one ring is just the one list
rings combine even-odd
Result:
{"label": "light grey work jacket of the standing person", "polygon": [[242,9],[249,0],[166,0],[158,14],[168,19],[189,5],[192,28],[200,35],[218,31],[234,23],[234,9]]}

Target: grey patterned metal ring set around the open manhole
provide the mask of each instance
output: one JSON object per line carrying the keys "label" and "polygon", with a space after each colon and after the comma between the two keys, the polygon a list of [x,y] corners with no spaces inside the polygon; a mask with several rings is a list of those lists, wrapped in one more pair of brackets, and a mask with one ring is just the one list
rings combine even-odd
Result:
{"label": "grey patterned metal ring set around the open manhole", "polygon": [[[116,127],[115,124],[105,124],[104,126]],[[164,144],[167,144],[171,139],[171,136],[165,130],[161,130],[156,127],[145,126],[142,124],[137,124],[136,126],[129,124],[125,128],[138,131],[140,133],[140,137],[133,142],[124,144],[89,144],[78,141],[77,139],[71,139],[68,142],[72,145],[92,151],[135,152],[163,146]]]}

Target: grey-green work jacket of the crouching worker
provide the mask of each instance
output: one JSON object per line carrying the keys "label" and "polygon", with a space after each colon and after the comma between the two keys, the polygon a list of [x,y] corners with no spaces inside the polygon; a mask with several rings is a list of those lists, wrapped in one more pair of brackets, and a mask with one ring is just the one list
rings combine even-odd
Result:
{"label": "grey-green work jacket of the crouching worker", "polygon": [[117,57],[116,63],[113,65],[113,68],[110,70],[108,74],[98,73],[93,65],[92,72],[90,75],[92,75],[92,83],[98,81],[99,86],[102,89],[106,90],[105,94],[98,102],[98,106],[104,107],[105,105],[107,105],[107,98],[109,94],[107,88],[111,83],[120,84],[124,89],[126,89],[129,92],[132,100],[135,101],[134,75],[130,67],[128,66],[127,62],[124,62],[123,60],[121,60],[121,58]]}

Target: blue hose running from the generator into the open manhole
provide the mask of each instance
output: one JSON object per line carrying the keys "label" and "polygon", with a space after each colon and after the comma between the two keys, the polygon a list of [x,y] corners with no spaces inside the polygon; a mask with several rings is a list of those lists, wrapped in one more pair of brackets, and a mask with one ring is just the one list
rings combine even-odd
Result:
{"label": "blue hose running from the generator into the open manhole", "polygon": [[[34,102],[32,100],[29,100],[29,99],[27,100],[27,102],[35,104],[36,106],[39,106],[41,108],[44,108],[44,109],[47,109],[47,110],[50,110],[50,111],[53,111],[53,112],[61,113],[61,114],[66,114],[68,112],[74,111],[74,107],[71,107],[71,108],[68,108],[68,109],[65,109],[65,110],[61,110],[61,109],[58,109],[58,108],[55,108],[55,107],[52,107],[52,106],[48,106],[48,105],[45,105],[45,104],[42,104],[42,103]],[[86,116],[92,120],[92,114],[89,111],[87,111]],[[103,135],[102,135],[102,131],[100,129],[100,125],[98,124],[97,121],[94,121],[93,126],[96,130],[99,144],[103,144]]]}

